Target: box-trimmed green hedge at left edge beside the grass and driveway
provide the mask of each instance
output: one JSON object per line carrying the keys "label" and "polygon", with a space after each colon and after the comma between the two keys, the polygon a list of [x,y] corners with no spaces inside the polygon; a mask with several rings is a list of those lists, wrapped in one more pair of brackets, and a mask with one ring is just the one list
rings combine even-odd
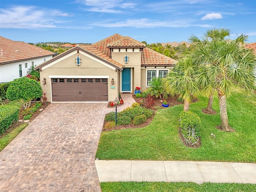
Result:
{"label": "box-trimmed green hedge at left edge beside the grass and driveway", "polygon": [[19,118],[19,108],[17,106],[3,105],[0,106],[0,134],[17,121]]}

